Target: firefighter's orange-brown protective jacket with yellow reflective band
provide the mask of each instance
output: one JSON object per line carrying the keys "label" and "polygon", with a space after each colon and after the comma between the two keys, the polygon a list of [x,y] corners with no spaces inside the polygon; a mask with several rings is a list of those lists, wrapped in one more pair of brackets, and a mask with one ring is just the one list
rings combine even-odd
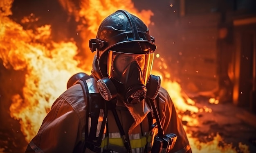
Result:
{"label": "firefighter's orange-brown protective jacket with yellow reflective band", "polygon": [[[88,93],[99,93],[96,86],[99,73],[97,73],[95,67],[92,75],[94,78],[86,80]],[[83,88],[85,87],[83,85],[83,83],[73,85],[56,99],[43,120],[38,133],[27,146],[26,153],[94,153],[88,148],[84,149],[86,145],[85,136],[90,132],[85,131],[85,127],[88,126],[90,130],[93,120],[92,118],[86,118],[90,102],[86,98],[88,95],[84,95]],[[182,122],[178,118],[173,102],[164,88],[160,89],[156,102],[164,132],[177,135],[175,146],[171,152],[191,152]],[[102,101],[102,103],[106,103],[106,101]],[[137,104],[127,104],[117,97],[115,109],[126,138],[130,142],[132,153],[144,153],[147,151],[157,132],[154,129],[149,131],[152,124],[147,117],[152,114],[150,105],[145,100]],[[98,122],[103,121],[102,115],[101,111]],[[101,145],[96,147],[95,150],[103,152],[104,149],[108,148],[114,153],[125,153],[127,150],[121,139],[120,131],[112,111],[109,110],[106,126],[108,126],[108,130],[105,128]],[[100,127],[94,128],[99,129]],[[99,134],[98,131],[96,134]]]}

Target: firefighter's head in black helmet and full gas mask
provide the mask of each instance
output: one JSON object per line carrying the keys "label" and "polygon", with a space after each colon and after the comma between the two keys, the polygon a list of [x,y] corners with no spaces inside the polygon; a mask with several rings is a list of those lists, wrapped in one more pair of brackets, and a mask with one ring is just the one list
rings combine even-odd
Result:
{"label": "firefighter's head in black helmet and full gas mask", "polygon": [[[158,94],[160,79],[150,75],[154,42],[147,26],[127,11],[118,10],[101,22],[89,46],[97,51],[95,60],[101,74],[97,85],[103,98],[111,100],[119,94],[128,103],[138,103]],[[157,91],[150,92],[147,83],[154,84]]]}

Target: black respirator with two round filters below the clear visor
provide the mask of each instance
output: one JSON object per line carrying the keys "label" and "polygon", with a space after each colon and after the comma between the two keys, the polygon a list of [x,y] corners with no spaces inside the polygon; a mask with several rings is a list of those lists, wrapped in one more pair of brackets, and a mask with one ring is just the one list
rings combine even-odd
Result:
{"label": "black respirator with two round filters below the clear visor", "polygon": [[[127,57],[125,60],[127,61]],[[145,63],[141,64],[138,61],[134,60],[127,66],[125,65],[124,70],[119,66],[119,70],[121,69],[122,72],[117,72],[117,70],[115,69],[118,68],[116,66],[111,66],[111,70],[113,72],[109,73],[111,74],[110,77],[105,77],[97,81],[97,86],[99,88],[101,96],[105,100],[110,101],[112,98],[115,98],[117,95],[119,95],[121,98],[124,99],[126,103],[130,104],[139,103],[145,97],[154,99],[159,93],[161,81],[160,77],[155,75],[149,75],[149,77],[146,77],[145,79],[145,74],[150,73],[145,72],[146,70],[148,70],[147,68],[145,68],[147,61],[148,60],[144,59]],[[110,63],[113,64],[115,62],[113,60],[113,62]],[[143,70],[141,69],[141,65],[144,66]],[[144,80],[148,82],[145,83]]]}

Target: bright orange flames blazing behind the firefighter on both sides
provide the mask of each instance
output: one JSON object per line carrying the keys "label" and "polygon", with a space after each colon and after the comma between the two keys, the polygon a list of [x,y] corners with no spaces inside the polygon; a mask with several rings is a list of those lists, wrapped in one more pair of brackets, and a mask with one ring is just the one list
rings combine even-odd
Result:
{"label": "bright orange flames blazing behind the firefighter on both sides", "polygon": [[[44,25],[32,31],[23,29],[20,24],[11,20],[8,15],[11,15],[12,2],[0,2],[0,59],[5,68],[26,72],[22,93],[12,95],[9,111],[12,118],[19,120],[20,130],[27,142],[37,133],[53,102],[65,91],[67,80],[77,72],[90,74],[94,54],[88,48],[88,40],[95,37],[100,22],[117,9],[126,9],[140,17],[147,25],[150,24],[150,17],[153,15],[150,10],[139,12],[131,0],[81,0],[80,9],[71,1],[59,0],[63,8],[73,15],[77,22],[81,22],[77,26],[77,31],[84,42],[82,48],[86,57],[82,59],[76,56],[78,47],[74,40],[58,43],[52,40],[51,25]],[[29,18],[24,17],[22,22],[29,22]],[[161,66],[167,69],[166,64],[162,63]],[[181,90],[180,84],[169,79],[171,74],[167,70],[155,70],[153,73],[161,76],[162,85],[171,95],[177,110],[190,112],[190,115],[180,115],[183,121],[188,122],[184,126],[186,131],[189,129],[187,126],[198,125],[196,113],[211,112],[210,108],[196,107],[195,102]],[[219,135],[211,142],[202,143],[193,138],[191,133],[187,134],[194,152],[234,152],[231,145],[218,146],[218,142],[222,141]],[[241,147],[246,150],[246,146]]]}

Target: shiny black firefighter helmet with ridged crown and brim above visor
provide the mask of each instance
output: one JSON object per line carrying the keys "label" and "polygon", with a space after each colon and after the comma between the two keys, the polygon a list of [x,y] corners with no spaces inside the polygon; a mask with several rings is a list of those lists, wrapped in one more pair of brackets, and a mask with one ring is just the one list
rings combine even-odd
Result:
{"label": "shiny black firefighter helmet with ridged crown and brim above visor", "polygon": [[[125,10],[118,10],[101,22],[96,39],[90,39],[89,47],[92,52],[97,51],[101,75],[107,77],[106,55],[108,50],[115,47],[127,48],[123,50],[126,53],[151,53],[156,49],[154,42],[155,39],[150,36],[144,22]],[[144,51],[144,47],[149,48],[148,52]]]}

